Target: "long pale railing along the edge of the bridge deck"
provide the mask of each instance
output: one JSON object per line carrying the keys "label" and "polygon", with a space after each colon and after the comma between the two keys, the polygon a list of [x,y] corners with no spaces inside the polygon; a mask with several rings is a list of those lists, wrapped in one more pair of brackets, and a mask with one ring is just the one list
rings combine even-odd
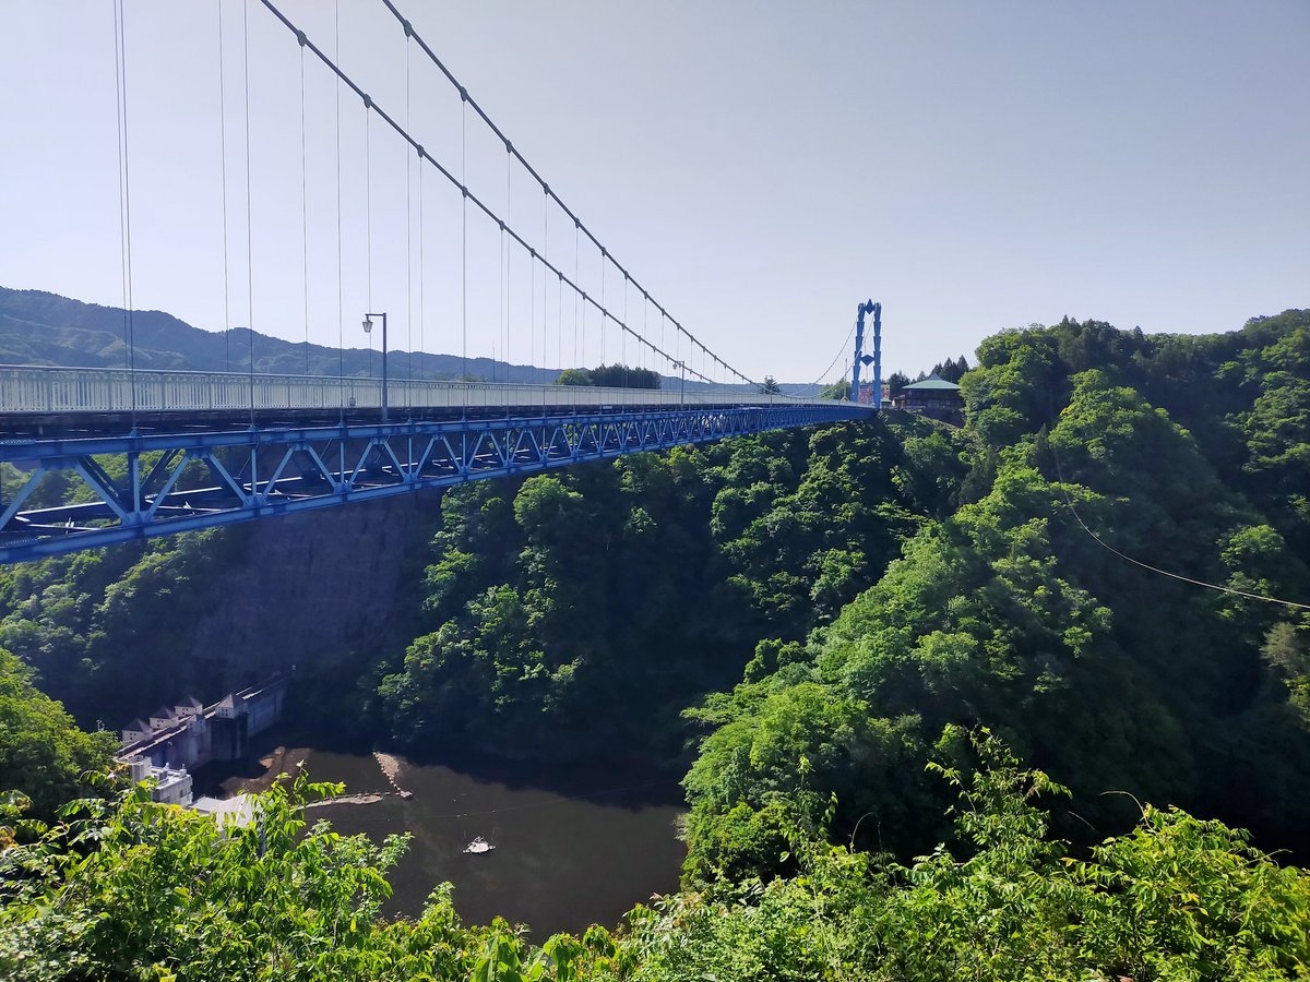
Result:
{"label": "long pale railing along the edge of the bridge deck", "polygon": [[[720,406],[724,403],[804,405],[819,402],[762,394],[738,386],[684,391],[607,389],[584,385],[516,382],[389,381],[392,412],[406,409],[486,406]],[[0,365],[0,412],[208,412],[255,410],[379,409],[380,378],[228,372],[160,372],[121,368]],[[832,405],[824,401],[820,405]]]}

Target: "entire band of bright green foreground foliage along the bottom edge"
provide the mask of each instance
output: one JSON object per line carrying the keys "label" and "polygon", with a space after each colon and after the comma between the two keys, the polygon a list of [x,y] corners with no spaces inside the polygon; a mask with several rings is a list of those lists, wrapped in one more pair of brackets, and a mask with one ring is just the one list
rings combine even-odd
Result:
{"label": "entire band of bright green foreground foliage along the bottom edge", "polygon": [[[965,741],[952,733],[955,749]],[[958,846],[913,864],[785,825],[800,875],[722,881],[542,948],[460,923],[448,886],[380,915],[405,848],[305,827],[303,779],[220,833],[148,800],[85,803],[0,829],[0,972],[16,982],[155,979],[1289,979],[1310,972],[1310,879],[1241,833],[1146,805],[1127,835],[1068,855],[1035,804],[1062,793],[994,738],[959,792]],[[12,812],[13,809],[10,809]],[[127,901],[127,902],[124,902]]]}

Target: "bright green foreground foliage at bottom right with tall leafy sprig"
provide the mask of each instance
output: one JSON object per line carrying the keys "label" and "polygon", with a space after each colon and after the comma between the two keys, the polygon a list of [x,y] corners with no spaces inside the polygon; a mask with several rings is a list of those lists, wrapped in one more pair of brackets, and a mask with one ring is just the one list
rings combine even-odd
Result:
{"label": "bright green foreground foliage at bottom right with tall leafy sprig", "polygon": [[[956,753],[967,749],[947,733]],[[1310,879],[1244,834],[1144,807],[1078,858],[1038,796],[1066,791],[997,740],[956,790],[956,845],[909,864],[787,833],[798,875],[717,881],[630,920],[645,979],[1290,979],[1310,970]]]}

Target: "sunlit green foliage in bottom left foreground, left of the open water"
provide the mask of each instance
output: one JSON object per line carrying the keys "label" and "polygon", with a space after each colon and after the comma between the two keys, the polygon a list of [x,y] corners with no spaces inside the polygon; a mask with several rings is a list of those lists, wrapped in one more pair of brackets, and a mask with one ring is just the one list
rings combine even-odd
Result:
{"label": "sunlit green foliage in bottom left foreground, left of the open water", "polygon": [[414,920],[388,922],[385,875],[405,837],[373,845],[305,801],[341,786],[275,786],[255,820],[215,820],[134,788],[67,825],[20,824],[0,851],[0,974],[83,978],[576,978],[569,936],[533,948],[503,920],[464,927],[448,885]]}

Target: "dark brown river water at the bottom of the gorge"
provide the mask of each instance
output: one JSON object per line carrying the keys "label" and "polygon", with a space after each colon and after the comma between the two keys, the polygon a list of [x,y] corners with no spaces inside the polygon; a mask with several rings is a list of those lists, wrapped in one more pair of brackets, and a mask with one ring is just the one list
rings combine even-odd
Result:
{"label": "dark brown river water at the bottom of the gorge", "polygon": [[[343,782],[347,793],[390,792],[369,754],[309,750],[313,780]],[[487,776],[443,765],[401,762],[397,784],[413,792],[373,804],[326,804],[309,818],[328,818],[343,834],[413,834],[409,852],[392,871],[390,914],[417,915],[441,882],[455,884],[455,907],[465,923],[500,915],[527,923],[538,943],[555,931],[588,924],[613,927],[655,893],[677,889],[684,856],[676,838],[677,784],[648,773],[593,767],[533,780]],[[466,855],[481,835],[491,852]]]}

